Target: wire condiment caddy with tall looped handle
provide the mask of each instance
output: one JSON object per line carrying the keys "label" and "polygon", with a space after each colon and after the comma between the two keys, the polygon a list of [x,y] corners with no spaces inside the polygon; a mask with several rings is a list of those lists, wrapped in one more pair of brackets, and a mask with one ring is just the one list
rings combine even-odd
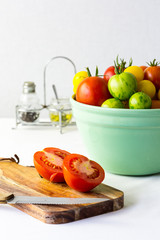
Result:
{"label": "wire condiment caddy with tall looped handle", "polygon": [[[74,68],[74,74],[76,74],[76,66],[74,62],[65,56],[56,56],[50,59],[50,61],[45,65],[44,67],[44,73],[43,73],[43,104],[38,108],[30,108],[29,110],[23,108],[20,105],[16,106],[16,127],[19,125],[21,126],[55,126],[58,127],[60,130],[60,133],[62,133],[62,128],[65,126],[73,126],[76,125],[74,121],[71,121],[71,114],[72,114],[72,108],[71,105],[66,105],[66,107],[63,107],[63,100],[59,99],[58,96],[55,98],[56,105],[53,104],[51,111],[56,112],[56,120],[52,121],[50,117],[50,121],[37,121],[39,119],[40,113],[43,109],[47,109],[48,112],[50,111],[49,105],[47,105],[46,102],[46,73],[49,65],[56,59],[65,59],[69,61],[73,68]],[[55,86],[55,85],[54,85]],[[56,94],[56,92],[55,92]],[[69,99],[68,99],[69,101]],[[70,114],[68,114],[70,113]]]}

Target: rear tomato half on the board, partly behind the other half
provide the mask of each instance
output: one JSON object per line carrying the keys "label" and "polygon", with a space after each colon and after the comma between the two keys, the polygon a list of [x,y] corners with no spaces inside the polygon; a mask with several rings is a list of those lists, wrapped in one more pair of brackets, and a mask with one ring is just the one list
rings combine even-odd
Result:
{"label": "rear tomato half on the board, partly behind the other half", "polygon": [[45,148],[34,154],[34,165],[40,176],[51,182],[64,182],[63,159],[69,152],[58,148]]}

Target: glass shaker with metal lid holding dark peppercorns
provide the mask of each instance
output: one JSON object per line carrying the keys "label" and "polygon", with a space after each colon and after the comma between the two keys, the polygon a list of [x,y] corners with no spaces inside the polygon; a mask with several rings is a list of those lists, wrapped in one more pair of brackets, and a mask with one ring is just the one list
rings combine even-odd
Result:
{"label": "glass shaker with metal lid holding dark peppercorns", "polygon": [[18,104],[18,119],[24,123],[33,123],[38,121],[41,105],[35,91],[34,82],[24,82],[23,92]]}

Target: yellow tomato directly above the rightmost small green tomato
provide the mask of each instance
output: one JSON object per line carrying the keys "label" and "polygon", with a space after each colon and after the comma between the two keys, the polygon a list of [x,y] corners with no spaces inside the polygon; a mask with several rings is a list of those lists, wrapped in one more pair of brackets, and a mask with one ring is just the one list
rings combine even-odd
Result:
{"label": "yellow tomato directly above the rightmost small green tomato", "polygon": [[142,81],[138,82],[138,92],[144,92],[148,96],[150,96],[151,99],[153,99],[153,97],[156,94],[156,87],[154,86],[154,84],[151,81],[142,80]]}

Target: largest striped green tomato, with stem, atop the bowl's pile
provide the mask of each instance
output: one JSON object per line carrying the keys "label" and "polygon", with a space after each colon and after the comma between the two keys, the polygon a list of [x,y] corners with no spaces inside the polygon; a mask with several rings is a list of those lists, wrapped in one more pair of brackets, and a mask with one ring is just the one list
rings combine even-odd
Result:
{"label": "largest striped green tomato, with stem, atop the bowl's pile", "polygon": [[123,72],[108,81],[110,94],[119,100],[128,100],[137,90],[137,80],[132,73]]}

